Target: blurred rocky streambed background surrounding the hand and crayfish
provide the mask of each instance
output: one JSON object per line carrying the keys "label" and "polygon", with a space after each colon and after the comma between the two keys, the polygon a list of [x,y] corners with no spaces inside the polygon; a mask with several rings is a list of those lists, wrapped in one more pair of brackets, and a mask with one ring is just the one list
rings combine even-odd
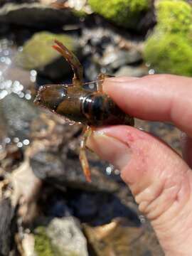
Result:
{"label": "blurred rocky streambed background surrounding the hand and crayfish", "polygon": [[[82,127],[33,104],[48,83],[98,73],[192,75],[192,4],[182,0],[0,0],[0,255],[164,255],[119,170],[78,152]],[[127,95],[129,100],[129,95]],[[180,154],[171,124],[136,120]]]}

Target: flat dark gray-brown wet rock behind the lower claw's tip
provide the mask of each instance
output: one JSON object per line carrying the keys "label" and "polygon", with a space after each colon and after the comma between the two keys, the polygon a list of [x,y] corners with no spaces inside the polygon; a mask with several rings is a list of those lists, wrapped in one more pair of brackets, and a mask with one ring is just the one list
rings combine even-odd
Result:
{"label": "flat dark gray-brown wet rock behind the lower claw's tip", "polygon": [[92,182],[87,183],[82,173],[80,161],[75,151],[68,146],[65,154],[39,151],[31,156],[31,166],[38,178],[47,181],[60,189],[64,186],[81,188],[88,191],[117,191],[119,185],[102,174],[98,168],[91,168]]}

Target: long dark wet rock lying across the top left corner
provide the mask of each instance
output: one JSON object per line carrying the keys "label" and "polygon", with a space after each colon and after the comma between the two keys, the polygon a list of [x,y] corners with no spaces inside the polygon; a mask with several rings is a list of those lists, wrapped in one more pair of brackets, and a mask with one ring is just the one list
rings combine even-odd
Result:
{"label": "long dark wet rock lying across the top left corner", "polygon": [[78,23],[70,9],[55,9],[39,3],[5,4],[0,9],[0,22],[36,28],[50,28]]}

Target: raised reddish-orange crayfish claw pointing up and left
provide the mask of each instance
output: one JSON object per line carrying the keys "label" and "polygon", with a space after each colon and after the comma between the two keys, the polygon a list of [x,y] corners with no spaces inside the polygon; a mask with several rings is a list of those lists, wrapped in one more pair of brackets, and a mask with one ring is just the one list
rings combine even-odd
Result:
{"label": "raised reddish-orange crayfish claw pointing up and left", "polygon": [[60,41],[55,40],[55,44],[56,45],[53,45],[52,47],[55,50],[57,50],[59,53],[61,53],[61,55],[63,55],[65,60],[68,61],[71,68],[73,69],[73,73],[74,73],[74,78],[73,79],[75,81],[78,80],[78,84],[82,85],[83,71],[82,71],[82,65],[80,64],[80,61],[75,56],[75,54],[73,54],[70,50],[68,50],[68,48],[66,48],[63,45],[63,43],[60,43]]}

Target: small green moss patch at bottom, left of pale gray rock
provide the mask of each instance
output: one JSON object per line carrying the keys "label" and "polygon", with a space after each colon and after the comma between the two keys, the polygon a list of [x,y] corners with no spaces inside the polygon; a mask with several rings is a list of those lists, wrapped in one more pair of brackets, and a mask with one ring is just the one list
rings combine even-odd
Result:
{"label": "small green moss patch at bottom, left of pale gray rock", "polygon": [[54,256],[50,238],[46,235],[46,228],[38,227],[35,230],[35,252],[37,256]]}

